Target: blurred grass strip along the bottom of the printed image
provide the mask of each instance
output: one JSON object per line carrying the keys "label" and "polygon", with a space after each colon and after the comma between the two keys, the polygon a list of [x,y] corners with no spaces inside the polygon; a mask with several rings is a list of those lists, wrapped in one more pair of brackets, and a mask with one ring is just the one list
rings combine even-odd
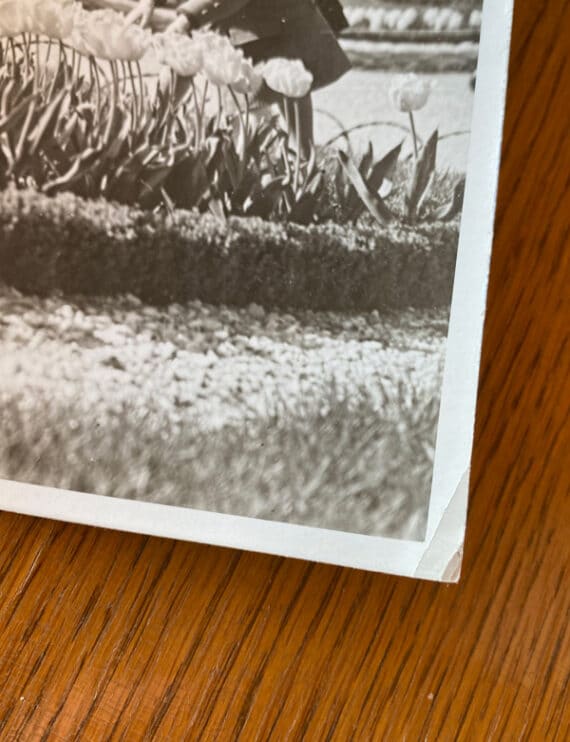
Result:
{"label": "blurred grass strip along the bottom of the printed image", "polygon": [[[434,381],[435,386],[435,381]],[[285,397],[267,420],[204,432],[156,407],[0,396],[0,476],[112,497],[421,540],[439,400],[400,387]]]}

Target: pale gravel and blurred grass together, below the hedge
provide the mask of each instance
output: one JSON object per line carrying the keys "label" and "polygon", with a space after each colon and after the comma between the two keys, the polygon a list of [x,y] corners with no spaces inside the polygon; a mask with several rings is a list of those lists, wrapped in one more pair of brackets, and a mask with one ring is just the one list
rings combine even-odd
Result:
{"label": "pale gravel and blurred grass together, below the hedge", "polygon": [[0,304],[3,477],[422,538],[441,312]]}

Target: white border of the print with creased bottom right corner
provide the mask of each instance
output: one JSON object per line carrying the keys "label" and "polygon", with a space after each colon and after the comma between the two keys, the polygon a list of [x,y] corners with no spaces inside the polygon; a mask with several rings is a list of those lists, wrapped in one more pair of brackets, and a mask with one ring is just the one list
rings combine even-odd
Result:
{"label": "white border of the print with creased bottom right corner", "polygon": [[507,87],[513,0],[484,0],[467,183],[423,542],[0,480],[0,510],[114,530],[455,582],[467,515],[479,360]]}

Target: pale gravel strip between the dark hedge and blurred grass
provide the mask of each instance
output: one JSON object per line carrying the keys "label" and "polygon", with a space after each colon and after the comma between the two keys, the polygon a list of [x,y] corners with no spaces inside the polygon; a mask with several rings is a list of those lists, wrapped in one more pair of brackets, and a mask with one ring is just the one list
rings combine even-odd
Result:
{"label": "pale gravel strip between the dark hedge and blurred grass", "polygon": [[[5,393],[41,390],[96,408],[152,399],[203,428],[259,419],[296,398],[437,387],[447,323],[434,313],[293,315],[192,302],[159,309],[133,297],[23,296],[0,289]],[[382,391],[383,390],[383,391]]]}

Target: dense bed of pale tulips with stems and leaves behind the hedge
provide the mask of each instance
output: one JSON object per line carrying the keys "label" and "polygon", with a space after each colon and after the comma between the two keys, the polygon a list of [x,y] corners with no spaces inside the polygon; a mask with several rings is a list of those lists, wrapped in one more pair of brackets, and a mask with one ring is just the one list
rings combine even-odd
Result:
{"label": "dense bed of pale tulips with stems and leaves behind the hedge", "polygon": [[[314,152],[304,161],[275,118],[250,115],[263,84],[292,99],[311,84],[300,62],[272,60],[265,72],[211,32],[151,34],[110,10],[49,2],[49,27],[35,0],[15,20],[0,7],[0,36],[12,23],[0,39],[0,187],[223,218],[312,218],[321,187]],[[165,65],[152,93],[139,65],[147,53]]]}

